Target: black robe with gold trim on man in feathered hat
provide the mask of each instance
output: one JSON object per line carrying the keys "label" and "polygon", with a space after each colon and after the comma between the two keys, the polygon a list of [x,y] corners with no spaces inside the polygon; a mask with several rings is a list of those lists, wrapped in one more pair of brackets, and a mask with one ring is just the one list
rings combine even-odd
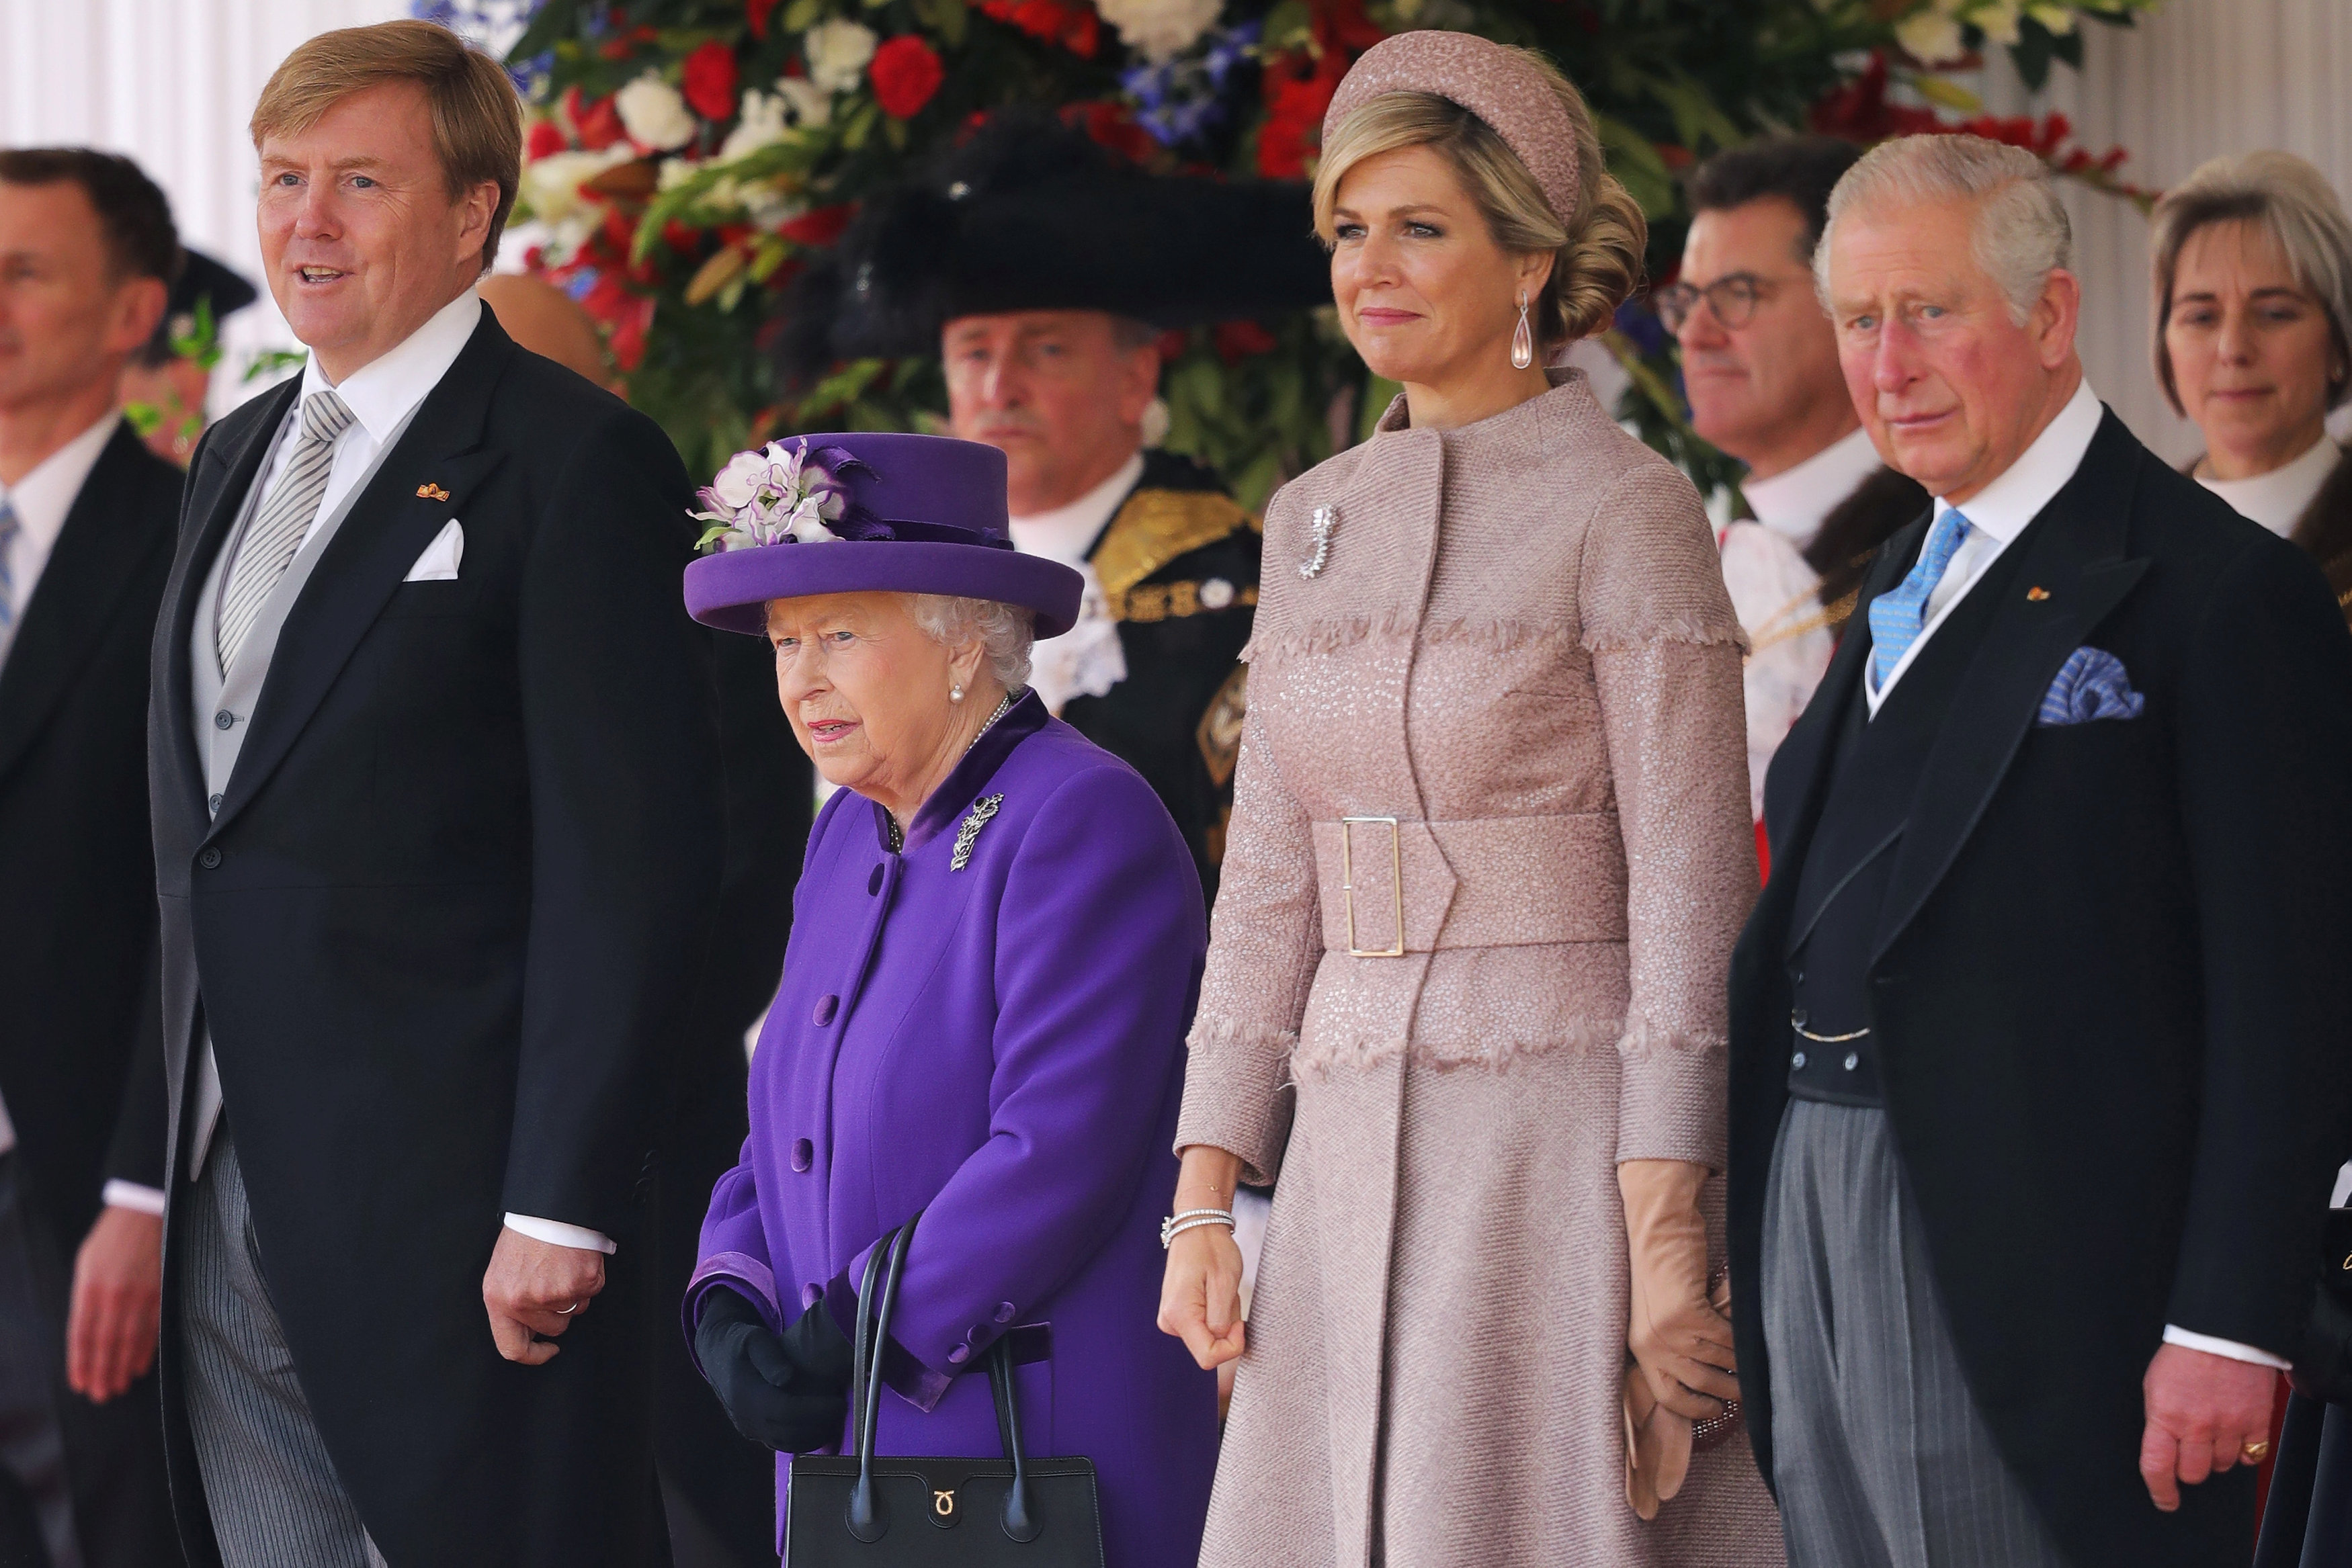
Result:
{"label": "black robe with gold trim on man in feathered hat", "polygon": [[1207,903],[1216,903],[1232,816],[1247,705],[1240,658],[1263,543],[1258,520],[1207,468],[1143,454],[1143,475],[1087,557],[1120,621],[1127,679],[1061,712],[1152,785],[1192,849]]}

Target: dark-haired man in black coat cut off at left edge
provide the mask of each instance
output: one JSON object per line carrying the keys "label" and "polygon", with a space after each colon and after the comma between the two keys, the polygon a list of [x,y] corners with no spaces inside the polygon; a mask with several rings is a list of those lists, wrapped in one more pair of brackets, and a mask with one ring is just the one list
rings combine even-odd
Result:
{"label": "dark-haired man in black coat cut off at left edge", "polygon": [[155,1410],[148,639],[179,470],[115,414],[179,237],[127,158],[0,150],[0,1561],[179,1561]]}

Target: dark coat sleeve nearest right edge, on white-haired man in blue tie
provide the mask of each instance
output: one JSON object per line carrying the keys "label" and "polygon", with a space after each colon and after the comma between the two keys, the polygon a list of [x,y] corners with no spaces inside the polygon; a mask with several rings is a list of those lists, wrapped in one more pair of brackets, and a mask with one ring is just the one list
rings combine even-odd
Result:
{"label": "dark coat sleeve nearest right edge, on white-haired man in blue tie", "polygon": [[2206,1056],[2169,1321],[2284,1356],[2352,1143],[2352,637],[2300,552],[2265,538],[2227,567],[2176,755]]}

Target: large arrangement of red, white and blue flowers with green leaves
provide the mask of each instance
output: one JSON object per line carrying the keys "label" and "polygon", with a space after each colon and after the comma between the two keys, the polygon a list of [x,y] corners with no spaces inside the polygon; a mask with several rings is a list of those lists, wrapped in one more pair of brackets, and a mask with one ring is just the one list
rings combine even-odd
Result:
{"label": "large arrangement of red, white and blue flowers with green leaves", "polygon": [[[473,0],[501,12],[524,0]],[[1402,28],[1545,49],[1585,89],[1611,169],[1672,275],[1677,174],[1773,127],[1863,141],[1992,129],[2074,179],[2131,195],[2122,153],[2070,148],[2063,120],[1987,122],[1943,71],[2006,49],[2030,82],[2082,63],[2089,21],[2154,0],[539,0],[508,63],[529,92],[529,266],[602,324],[630,400],[706,473],[807,428],[936,428],[931,360],[861,360],[814,388],[774,381],[786,284],[866,193],[903,179],[976,115],[1054,103],[1155,172],[1312,174],[1348,63]],[[466,26],[466,0],[433,0]],[[2046,146],[2044,146],[2046,143]],[[1708,482],[1677,364],[1635,306],[1609,336],[1635,374],[1628,416]],[[1244,503],[1378,414],[1331,313],[1223,322],[1162,343],[1164,444]],[[1710,463],[1715,468],[1710,468]],[[731,517],[731,515],[729,515]],[[729,522],[729,529],[736,529]]]}

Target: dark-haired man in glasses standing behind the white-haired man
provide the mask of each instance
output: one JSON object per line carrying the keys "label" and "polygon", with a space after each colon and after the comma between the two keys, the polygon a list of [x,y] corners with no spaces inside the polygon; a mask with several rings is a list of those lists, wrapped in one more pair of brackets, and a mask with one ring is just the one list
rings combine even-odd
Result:
{"label": "dark-haired man in glasses standing behind the white-haired man", "polygon": [[1837,136],[1766,136],[1698,165],[1684,181],[1682,277],[1658,294],[1682,343],[1691,425],[1748,465],[1740,496],[1755,520],[1726,527],[1719,545],[1752,642],[1743,677],[1759,825],[1764,771],[1830,668],[1863,562],[1926,512],[1926,491],[1870,444],[1813,294],[1830,188],[1860,155]]}

